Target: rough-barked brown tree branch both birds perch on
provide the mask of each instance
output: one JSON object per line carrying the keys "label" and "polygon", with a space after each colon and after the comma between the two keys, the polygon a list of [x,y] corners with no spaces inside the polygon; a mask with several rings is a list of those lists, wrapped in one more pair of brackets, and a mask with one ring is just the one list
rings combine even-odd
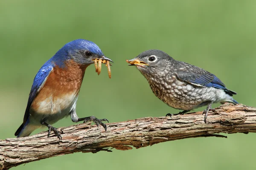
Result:
{"label": "rough-barked brown tree branch both birds perch on", "polygon": [[[112,152],[110,149],[130,150],[160,142],[194,137],[226,137],[215,133],[256,132],[256,108],[224,104],[209,112],[204,123],[202,112],[170,117],[146,117],[110,123],[108,130],[96,125],[78,124],[61,128],[62,140],[47,132],[25,138],[0,140],[0,170],[38,161],[52,156],[75,152]],[[60,130],[60,129],[59,129]]]}

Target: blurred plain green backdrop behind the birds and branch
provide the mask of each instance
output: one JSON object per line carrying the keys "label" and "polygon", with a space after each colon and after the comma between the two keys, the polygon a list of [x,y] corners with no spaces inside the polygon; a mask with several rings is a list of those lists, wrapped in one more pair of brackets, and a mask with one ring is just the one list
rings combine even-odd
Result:
{"label": "blurred plain green backdrop behind the birds and branch", "polygon": [[[121,122],[177,113],[157,99],[140,72],[125,62],[148,49],[163,50],[214,73],[238,93],[234,99],[256,106],[255,6],[254,0],[1,0],[0,139],[15,137],[41,65],[64,44],[79,38],[95,42],[114,61],[111,79],[105,67],[99,76],[93,66],[87,68],[77,104],[80,117],[95,115]],[[99,103],[102,107],[97,107]],[[67,118],[54,126],[73,124]],[[112,153],[75,153],[13,170],[254,169],[256,134],[227,136]]]}

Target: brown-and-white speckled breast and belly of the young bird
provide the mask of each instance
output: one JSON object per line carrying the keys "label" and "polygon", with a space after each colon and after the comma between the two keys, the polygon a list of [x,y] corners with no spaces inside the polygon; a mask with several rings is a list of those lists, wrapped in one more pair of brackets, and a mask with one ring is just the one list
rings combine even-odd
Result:
{"label": "brown-and-white speckled breast and belly of the young bird", "polygon": [[178,80],[175,75],[169,77],[146,77],[146,79],[151,90],[159,99],[167,105],[180,110],[190,111],[197,108],[198,105],[210,101],[212,96],[215,96],[214,89],[195,87]]}

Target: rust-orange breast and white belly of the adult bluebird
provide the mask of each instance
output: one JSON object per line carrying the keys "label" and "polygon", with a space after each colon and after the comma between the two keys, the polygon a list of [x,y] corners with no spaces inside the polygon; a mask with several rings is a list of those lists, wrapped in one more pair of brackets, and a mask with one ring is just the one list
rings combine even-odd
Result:
{"label": "rust-orange breast and white belly of the adult bluebird", "polygon": [[73,105],[84,77],[86,67],[70,60],[64,68],[55,66],[37,96],[31,109],[37,113],[59,113]]}

